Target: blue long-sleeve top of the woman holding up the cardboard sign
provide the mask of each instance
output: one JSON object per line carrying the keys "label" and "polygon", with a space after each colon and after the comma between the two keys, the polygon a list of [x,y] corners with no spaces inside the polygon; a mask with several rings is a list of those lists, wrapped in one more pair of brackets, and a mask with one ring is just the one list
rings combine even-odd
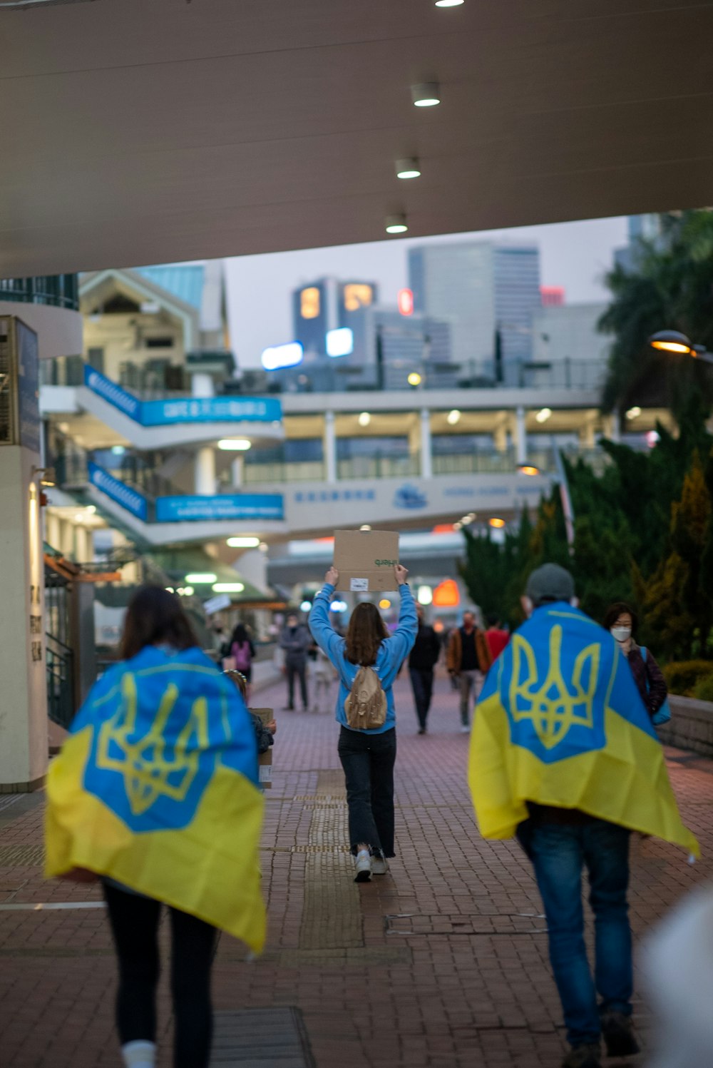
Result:
{"label": "blue long-sleeve top of the woman holding up the cardboard sign", "polygon": [[[399,668],[408,657],[418,631],[418,618],[416,616],[416,606],[407,583],[398,587],[401,596],[401,610],[398,617],[398,627],[390,638],[384,638],[377,654],[377,662],[373,665],[377,675],[381,679],[381,686],[386,694],[386,720],[381,727],[374,731],[360,731],[360,734],[383,734],[391,731],[396,725],[396,710],[394,708],[394,692],[392,687]],[[334,593],[334,586],[329,582],[324,583],[314,599],[310,613],[310,630],[320,649],[322,649],[336,668],[339,675],[339,693],[336,698],[335,716],[337,723],[348,729],[353,729],[347,724],[347,713],[344,703],[349,696],[352,682],[359,672],[359,664],[352,664],[347,660],[347,643],[332,627],[329,618],[329,606]]]}

